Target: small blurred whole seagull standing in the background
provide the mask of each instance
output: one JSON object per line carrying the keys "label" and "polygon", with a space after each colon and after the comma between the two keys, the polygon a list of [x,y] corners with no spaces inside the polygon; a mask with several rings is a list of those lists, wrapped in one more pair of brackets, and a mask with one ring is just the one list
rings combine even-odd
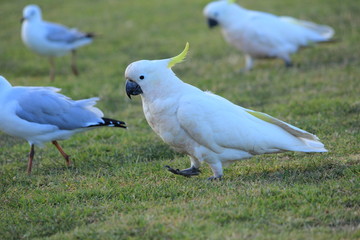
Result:
{"label": "small blurred whole seagull standing in the background", "polygon": [[75,28],[42,20],[41,9],[28,5],[23,10],[21,38],[24,44],[37,54],[49,57],[50,78],[55,77],[54,57],[71,52],[71,69],[78,75],[76,49],[93,41],[92,33],[79,32]]}

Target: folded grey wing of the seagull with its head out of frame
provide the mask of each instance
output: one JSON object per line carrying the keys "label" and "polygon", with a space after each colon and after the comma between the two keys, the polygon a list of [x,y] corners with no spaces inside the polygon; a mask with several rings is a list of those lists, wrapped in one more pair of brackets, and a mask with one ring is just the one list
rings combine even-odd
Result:
{"label": "folded grey wing of the seagull with its head out of frame", "polygon": [[39,124],[54,125],[62,130],[85,128],[101,123],[102,112],[93,105],[97,98],[74,101],[55,92],[57,89],[29,88],[18,99],[18,117]]}

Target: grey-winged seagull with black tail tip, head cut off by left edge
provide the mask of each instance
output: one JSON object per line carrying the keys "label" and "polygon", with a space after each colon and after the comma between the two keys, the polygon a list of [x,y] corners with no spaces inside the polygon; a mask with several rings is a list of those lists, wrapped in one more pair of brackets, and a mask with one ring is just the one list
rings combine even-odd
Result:
{"label": "grey-winged seagull with black tail tip, head cut off by left edge", "polygon": [[13,87],[0,76],[0,130],[29,142],[29,174],[34,145],[43,146],[51,141],[70,165],[69,156],[58,140],[96,127],[126,128],[122,121],[103,118],[101,110],[94,107],[98,98],[74,101],[58,91],[54,87]]}

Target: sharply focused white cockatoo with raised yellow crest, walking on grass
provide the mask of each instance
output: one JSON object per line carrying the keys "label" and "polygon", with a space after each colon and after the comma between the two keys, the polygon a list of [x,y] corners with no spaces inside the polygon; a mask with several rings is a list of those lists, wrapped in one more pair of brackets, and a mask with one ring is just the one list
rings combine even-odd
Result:
{"label": "sharply focused white cockatoo with raised yellow crest, walking on grass", "polygon": [[319,139],[265,113],[237,106],[181,81],[171,70],[188,51],[163,60],[141,60],[125,71],[126,93],[141,95],[145,118],[162,140],[190,156],[191,167],[168,170],[183,176],[200,173],[202,162],[214,175],[223,166],[265,153],[326,152]]}

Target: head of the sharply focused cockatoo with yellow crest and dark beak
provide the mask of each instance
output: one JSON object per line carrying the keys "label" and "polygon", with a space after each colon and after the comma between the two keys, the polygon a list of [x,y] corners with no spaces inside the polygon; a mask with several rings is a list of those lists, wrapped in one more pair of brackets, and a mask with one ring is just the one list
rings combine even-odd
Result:
{"label": "head of the sharply focused cockatoo with yellow crest and dark beak", "polygon": [[131,95],[154,92],[154,88],[168,89],[171,81],[178,79],[171,68],[184,60],[188,50],[189,43],[186,43],[185,49],[175,57],[131,63],[125,70],[125,89],[128,97],[131,99]]}

